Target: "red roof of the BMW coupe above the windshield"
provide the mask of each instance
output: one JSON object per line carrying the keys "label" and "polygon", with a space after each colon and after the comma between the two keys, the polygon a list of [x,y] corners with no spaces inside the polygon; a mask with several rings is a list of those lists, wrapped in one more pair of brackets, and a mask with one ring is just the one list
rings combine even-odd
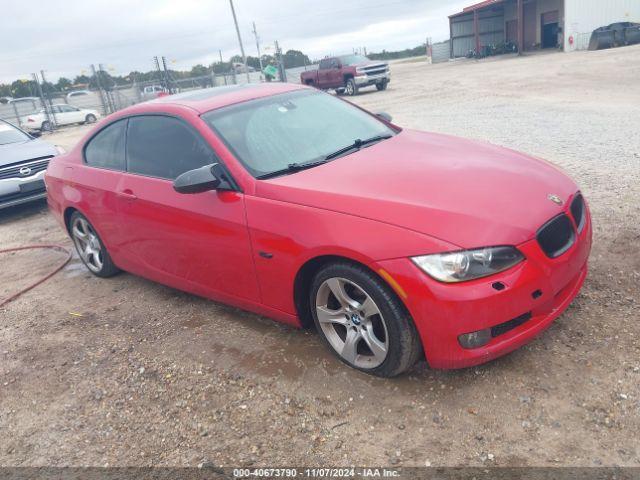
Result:
{"label": "red roof of the BMW coupe above the windshield", "polygon": [[148,103],[182,105],[196,110],[199,113],[205,113],[234,103],[308,88],[309,87],[303,85],[280,82],[228,85],[168,95]]}

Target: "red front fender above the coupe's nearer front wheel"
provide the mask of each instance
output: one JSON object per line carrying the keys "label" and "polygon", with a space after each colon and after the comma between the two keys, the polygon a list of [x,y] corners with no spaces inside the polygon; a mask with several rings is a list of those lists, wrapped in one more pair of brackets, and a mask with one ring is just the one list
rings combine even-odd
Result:
{"label": "red front fender above the coupe's nearer front wheel", "polygon": [[262,302],[290,314],[296,314],[296,275],[313,258],[345,257],[378,272],[384,259],[453,248],[367,218],[253,196],[245,202]]}

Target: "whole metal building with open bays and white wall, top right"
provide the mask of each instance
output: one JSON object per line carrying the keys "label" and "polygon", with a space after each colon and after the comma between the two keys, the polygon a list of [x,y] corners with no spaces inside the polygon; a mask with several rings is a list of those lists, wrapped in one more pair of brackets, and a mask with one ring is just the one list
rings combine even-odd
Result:
{"label": "whole metal building with open bays and white wall, top right", "polygon": [[450,56],[498,44],[583,50],[593,30],[616,22],[640,22],[640,0],[486,0],[449,17]]}

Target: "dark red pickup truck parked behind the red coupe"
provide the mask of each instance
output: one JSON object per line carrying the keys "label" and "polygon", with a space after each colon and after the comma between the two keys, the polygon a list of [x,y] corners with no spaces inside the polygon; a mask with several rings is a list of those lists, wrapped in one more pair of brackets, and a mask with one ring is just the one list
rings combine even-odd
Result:
{"label": "dark red pickup truck parked behind the red coupe", "polygon": [[391,81],[389,64],[374,62],[363,55],[343,55],[320,61],[317,70],[302,72],[300,83],[322,90],[357,95],[361,88],[375,85],[386,90]]}

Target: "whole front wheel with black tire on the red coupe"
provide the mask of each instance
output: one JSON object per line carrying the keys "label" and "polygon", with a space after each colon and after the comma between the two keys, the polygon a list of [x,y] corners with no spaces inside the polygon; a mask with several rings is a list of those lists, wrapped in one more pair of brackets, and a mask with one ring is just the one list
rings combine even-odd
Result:
{"label": "whole front wheel with black tire on the red coupe", "polygon": [[311,283],[310,305],[324,342],[353,368],[394,377],[422,352],[404,305],[365,267],[345,262],[322,268]]}

